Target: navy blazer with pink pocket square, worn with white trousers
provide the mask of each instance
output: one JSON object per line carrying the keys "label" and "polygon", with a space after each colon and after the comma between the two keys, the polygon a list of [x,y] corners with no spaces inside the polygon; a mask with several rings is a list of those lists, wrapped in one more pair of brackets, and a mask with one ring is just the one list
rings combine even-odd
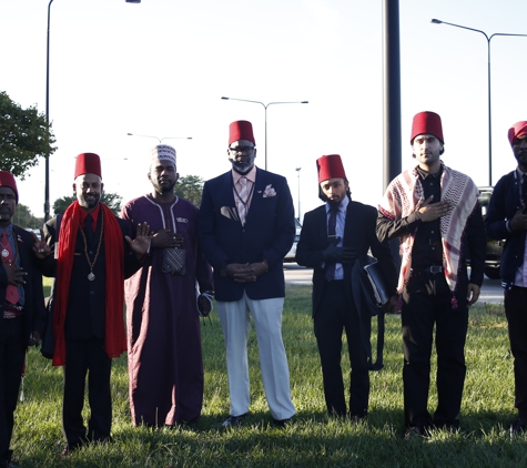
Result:
{"label": "navy blazer with pink pocket square, worn with white trousers", "polygon": [[[265,192],[275,193],[266,196]],[[295,235],[294,207],[287,181],[281,175],[256,169],[256,184],[245,225],[242,226],[234,202],[232,172],[205,182],[197,235],[207,262],[214,268],[217,301],[239,301],[243,292],[252,299],[285,296],[283,258]],[[221,276],[229,263],[267,260],[268,272],[255,283],[235,283]]]}

